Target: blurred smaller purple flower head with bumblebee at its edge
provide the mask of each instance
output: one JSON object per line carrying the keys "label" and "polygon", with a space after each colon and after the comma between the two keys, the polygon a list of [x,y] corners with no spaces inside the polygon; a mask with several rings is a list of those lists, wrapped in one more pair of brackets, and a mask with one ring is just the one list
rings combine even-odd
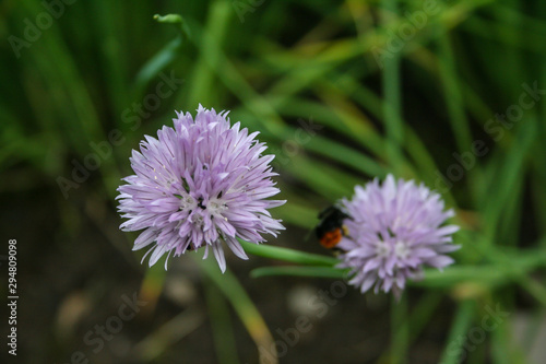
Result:
{"label": "blurred smaller purple flower head with bumblebee at its edge", "polygon": [[441,226],[453,210],[443,211],[440,196],[424,185],[392,175],[380,185],[376,178],[356,186],[341,207],[351,218],[344,222],[349,234],[339,244],[345,250],[340,267],[349,268],[349,283],[363,293],[375,285],[376,293],[392,290],[400,298],[405,281],[423,275],[423,266],[453,262],[444,254],[459,248],[451,243],[459,227]]}

